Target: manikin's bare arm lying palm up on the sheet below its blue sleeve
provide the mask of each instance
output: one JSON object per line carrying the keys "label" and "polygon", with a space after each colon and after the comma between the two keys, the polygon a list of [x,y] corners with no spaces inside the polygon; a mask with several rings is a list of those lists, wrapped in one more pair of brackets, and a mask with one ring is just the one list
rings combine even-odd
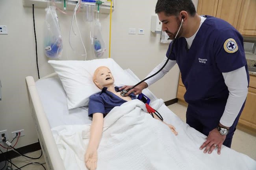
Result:
{"label": "manikin's bare arm lying palm up on the sheet below its blue sleeve", "polygon": [[103,130],[103,114],[93,113],[93,122],[91,124],[91,137],[85,153],[85,165],[89,170],[97,168],[97,149],[100,143]]}

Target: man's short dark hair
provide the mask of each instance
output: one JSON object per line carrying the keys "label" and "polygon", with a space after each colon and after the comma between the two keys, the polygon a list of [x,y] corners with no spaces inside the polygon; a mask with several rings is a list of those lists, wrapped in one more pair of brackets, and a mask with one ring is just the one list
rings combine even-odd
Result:
{"label": "man's short dark hair", "polygon": [[156,3],[156,14],[164,12],[166,16],[178,16],[180,11],[187,11],[191,16],[196,14],[192,0],[158,0]]}

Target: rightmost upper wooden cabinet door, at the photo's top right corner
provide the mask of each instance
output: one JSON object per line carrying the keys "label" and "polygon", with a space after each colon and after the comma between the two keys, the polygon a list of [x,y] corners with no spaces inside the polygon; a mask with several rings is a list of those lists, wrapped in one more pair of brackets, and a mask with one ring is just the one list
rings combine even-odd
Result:
{"label": "rightmost upper wooden cabinet door, at the photo's top right corner", "polygon": [[242,35],[256,36],[256,0],[242,0],[237,30]]}

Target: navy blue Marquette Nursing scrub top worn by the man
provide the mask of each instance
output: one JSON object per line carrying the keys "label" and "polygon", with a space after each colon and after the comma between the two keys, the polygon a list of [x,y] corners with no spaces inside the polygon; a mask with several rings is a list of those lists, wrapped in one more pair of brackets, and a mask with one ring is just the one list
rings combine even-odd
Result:
{"label": "navy blue Marquette Nursing scrub top worn by the man", "polygon": [[206,16],[190,49],[184,37],[178,38],[170,59],[180,68],[187,90],[185,101],[202,114],[214,114],[218,112],[215,106],[226,104],[229,91],[222,73],[245,66],[249,84],[243,37],[228,22],[213,16]]}

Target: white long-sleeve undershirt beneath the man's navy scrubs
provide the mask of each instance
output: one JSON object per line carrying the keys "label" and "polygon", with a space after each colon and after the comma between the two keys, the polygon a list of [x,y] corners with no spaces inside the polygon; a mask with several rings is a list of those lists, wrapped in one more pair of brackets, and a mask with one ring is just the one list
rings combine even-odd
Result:
{"label": "white long-sleeve undershirt beneath the man's navy scrubs", "polygon": [[[204,22],[206,18],[201,16],[200,26]],[[198,30],[200,28],[198,27]],[[187,40],[187,47],[190,48],[191,44],[193,43],[193,40],[198,32],[189,37],[186,38]],[[167,60],[167,57],[163,59],[163,61],[156,66],[149,74],[153,75],[156,73],[160,68],[163,67]],[[169,60],[166,66],[154,77],[146,80],[145,82],[150,86],[157,80],[161,79],[168,71],[170,71],[171,68],[176,64],[176,60]],[[226,102],[225,110],[223,112],[223,115],[220,119],[220,123],[223,126],[230,127],[234,123],[239,111],[241,110],[241,107],[243,103],[245,102],[245,99],[247,97],[248,93],[248,80],[247,80],[247,73],[245,70],[245,66],[236,69],[234,71],[230,71],[227,73],[222,73],[224,81],[226,86],[228,87],[229,95],[228,100]],[[147,77],[148,77],[147,76]]]}

